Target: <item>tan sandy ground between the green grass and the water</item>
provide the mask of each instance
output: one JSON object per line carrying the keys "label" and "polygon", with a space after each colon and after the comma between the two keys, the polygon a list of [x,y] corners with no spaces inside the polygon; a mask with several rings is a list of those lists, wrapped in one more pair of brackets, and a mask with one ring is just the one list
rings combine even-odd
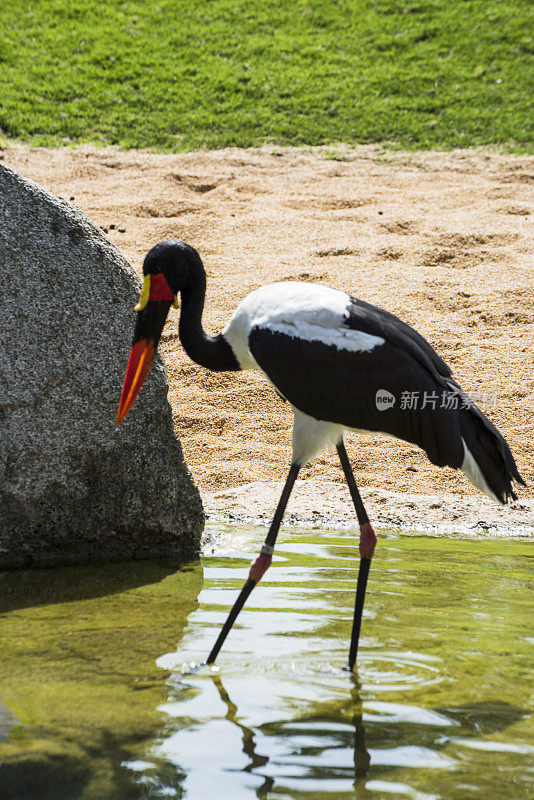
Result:
{"label": "tan sandy ground between the green grass and the water", "polygon": [[[209,332],[248,292],[288,279],[348,290],[416,327],[485,406],[529,487],[503,511],[414,446],[349,434],[371,516],[422,527],[532,523],[533,158],[378,146],[160,155],[13,145],[3,159],[77,204],[138,269],[162,239],[194,245],[208,273]],[[206,508],[267,518],[289,464],[291,411],[259,374],[192,364],[177,321],[163,336],[169,399]],[[301,476],[290,513],[347,518],[334,454]]]}

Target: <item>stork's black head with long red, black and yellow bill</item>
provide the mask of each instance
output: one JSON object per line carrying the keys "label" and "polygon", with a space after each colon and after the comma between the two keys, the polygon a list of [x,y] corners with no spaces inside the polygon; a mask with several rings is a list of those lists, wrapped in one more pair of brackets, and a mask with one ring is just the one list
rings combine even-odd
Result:
{"label": "stork's black head with long red, black and yellow bill", "polygon": [[126,367],[117,425],[120,425],[139,394],[150,371],[156,348],[171,306],[178,307],[178,292],[198,283],[204,274],[197,251],[178,240],[160,242],[150,250],[143,263],[143,289],[135,307],[132,349]]}

